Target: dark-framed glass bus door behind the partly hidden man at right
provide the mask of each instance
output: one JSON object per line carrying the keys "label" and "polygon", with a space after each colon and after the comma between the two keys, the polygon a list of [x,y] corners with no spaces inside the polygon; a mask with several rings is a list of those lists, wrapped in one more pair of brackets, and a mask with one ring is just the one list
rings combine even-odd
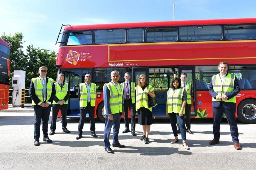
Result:
{"label": "dark-framed glass bus door behind the partly hidden man at right", "polygon": [[195,67],[194,66],[179,66],[178,67],[178,77],[180,78],[181,73],[187,74],[187,82],[192,84],[192,95],[191,95],[191,116],[196,116],[196,79],[195,79]]}

